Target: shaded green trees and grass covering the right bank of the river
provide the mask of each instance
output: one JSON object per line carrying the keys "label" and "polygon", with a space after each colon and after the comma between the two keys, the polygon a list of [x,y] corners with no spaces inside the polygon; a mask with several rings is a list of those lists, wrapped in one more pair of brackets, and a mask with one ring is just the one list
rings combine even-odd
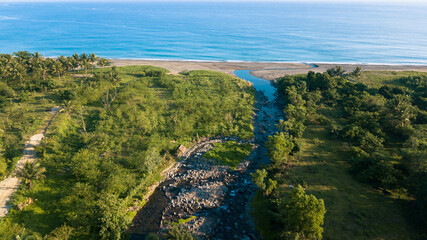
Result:
{"label": "shaded green trees and grass covering the right bank of the river", "polygon": [[[254,216],[263,219],[256,222],[263,236],[322,238],[300,235],[286,216],[277,216],[286,209],[281,203],[296,202],[289,199],[301,185],[324,201],[326,239],[423,238],[427,74],[355,69],[346,75],[337,67],[284,77],[277,86],[288,119],[267,144],[272,164],[253,175],[260,188]],[[322,221],[311,223],[318,229]]]}

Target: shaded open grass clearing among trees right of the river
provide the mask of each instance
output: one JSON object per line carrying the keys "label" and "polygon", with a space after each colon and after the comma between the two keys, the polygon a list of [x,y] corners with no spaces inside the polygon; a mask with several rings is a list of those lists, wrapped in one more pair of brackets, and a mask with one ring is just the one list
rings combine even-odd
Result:
{"label": "shaded open grass clearing among trees right of the river", "polygon": [[287,184],[302,184],[307,192],[322,198],[327,209],[325,239],[407,239],[413,229],[407,224],[402,204],[371,186],[357,182],[349,173],[346,145],[334,139],[323,126],[308,125],[300,160],[293,163]]}

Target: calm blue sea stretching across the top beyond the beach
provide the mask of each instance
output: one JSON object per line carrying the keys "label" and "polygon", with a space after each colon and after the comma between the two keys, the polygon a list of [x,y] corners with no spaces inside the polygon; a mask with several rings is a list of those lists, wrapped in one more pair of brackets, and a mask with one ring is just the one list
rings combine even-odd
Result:
{"label": "calm blue sea stretching across the top beyond the beach", "polygon": [[0,52],[427,64],[427,4],[0,3]]}

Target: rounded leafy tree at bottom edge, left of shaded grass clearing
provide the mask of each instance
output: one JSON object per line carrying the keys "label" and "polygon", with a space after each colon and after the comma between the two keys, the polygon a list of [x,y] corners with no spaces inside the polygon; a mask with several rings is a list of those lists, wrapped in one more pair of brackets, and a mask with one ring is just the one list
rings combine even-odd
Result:
{"label": "rounded leafy tree at bottom edge, left of shaded grass clearing", "polygon": [[298,185],[279,201],[277,207],[279,221],[283,227],[281,233],[283,237],[322,239],[321,225],[326,213],[322,199],[307,195]]}

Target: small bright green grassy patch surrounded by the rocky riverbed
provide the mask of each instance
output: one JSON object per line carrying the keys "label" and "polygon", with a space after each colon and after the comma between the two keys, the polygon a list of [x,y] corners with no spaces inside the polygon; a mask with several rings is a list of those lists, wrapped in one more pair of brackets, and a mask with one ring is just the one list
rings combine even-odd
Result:
{"label": "small bright green grassy patch surrounded by the rocky riverbed", "polygon": [[218,163],[235,169],[252,151],[249,143],[239,144],[234,141],[214,143],[213,149],[203,155],[204,158],[218,160]]}

